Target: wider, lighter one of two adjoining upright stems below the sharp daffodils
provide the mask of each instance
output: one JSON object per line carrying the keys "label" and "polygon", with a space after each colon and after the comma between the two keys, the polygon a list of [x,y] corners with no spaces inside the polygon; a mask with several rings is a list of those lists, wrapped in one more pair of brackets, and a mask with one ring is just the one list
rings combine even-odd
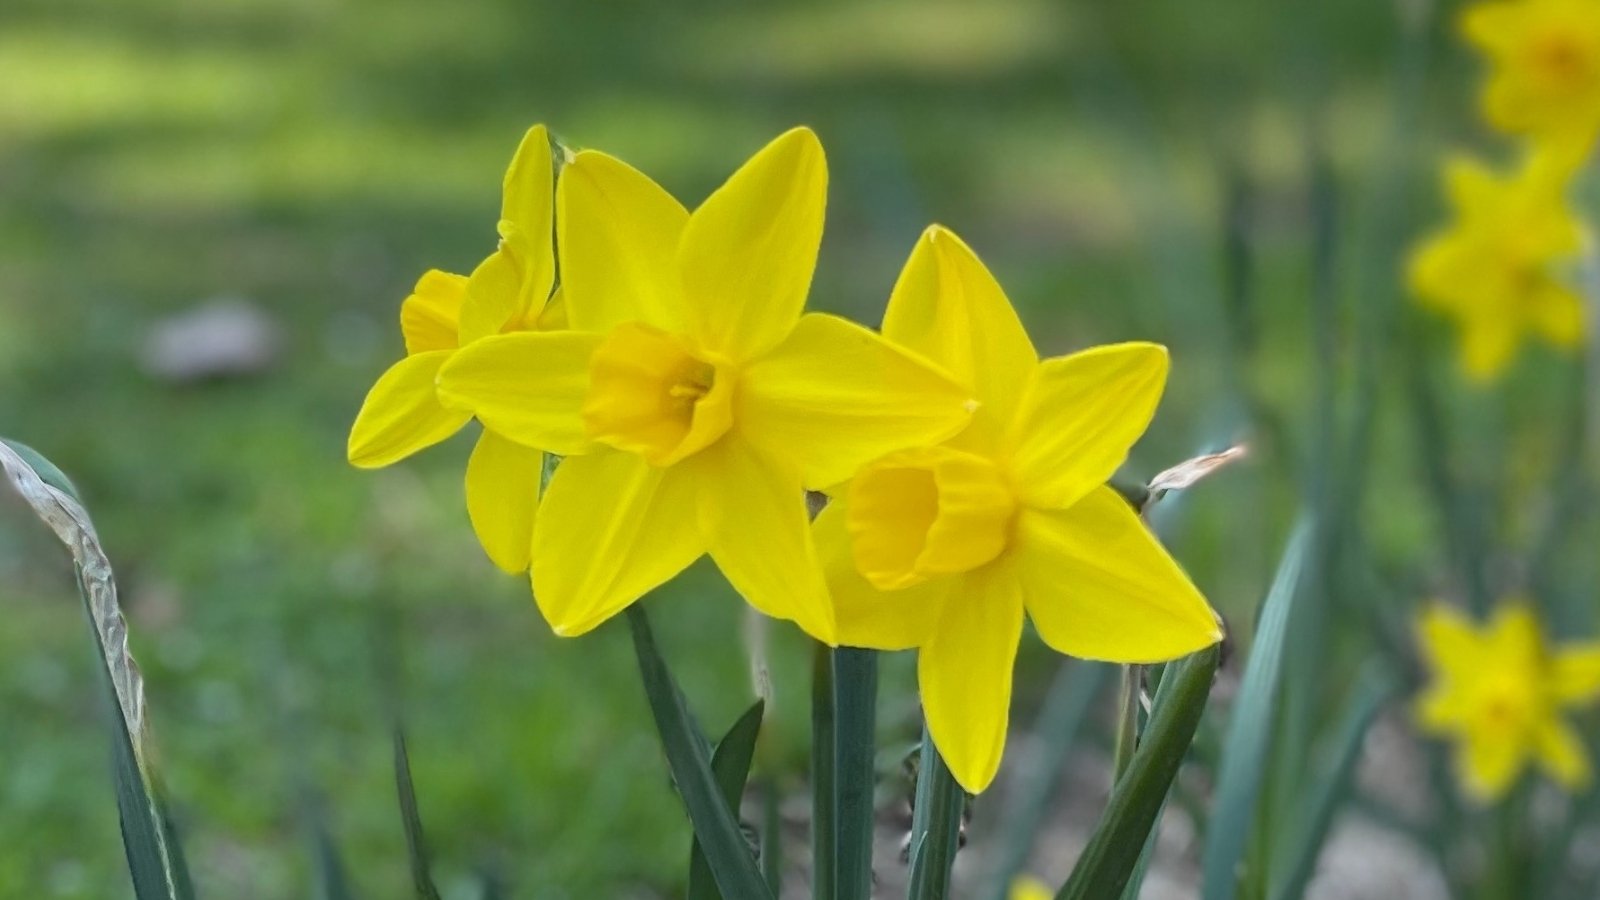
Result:
{"label": "wider, lighter one of two adjoining upright stems below the sharp daffodils", "polygon": [[834,895],[872,897],[874,757],[878,709],[878,653],[838,647],[834,657]]}

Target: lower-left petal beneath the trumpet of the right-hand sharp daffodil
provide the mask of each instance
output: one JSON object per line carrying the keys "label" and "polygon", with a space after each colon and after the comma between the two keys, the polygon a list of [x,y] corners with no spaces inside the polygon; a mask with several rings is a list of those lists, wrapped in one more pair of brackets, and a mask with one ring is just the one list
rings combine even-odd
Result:
{"label": "lower-left petal beneath the trumpet of the right-hand sharp daffodil", "polygon": [[845,647],[909,650],[928,642],[957,578],[933,578],[901,591],[878,591],[856,570],[845,530],[845,506],[835,500],[811,522],[818,559],[834,597],[838,642]]}

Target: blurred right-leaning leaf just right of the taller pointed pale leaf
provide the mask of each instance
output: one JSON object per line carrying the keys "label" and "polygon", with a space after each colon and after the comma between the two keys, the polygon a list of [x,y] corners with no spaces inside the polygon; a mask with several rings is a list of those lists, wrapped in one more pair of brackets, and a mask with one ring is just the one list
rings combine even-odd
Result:
{"label": "blurred right-leaning leaf just right of the taller pointed pale leaf", "polygon": [[[1317,857],[1328,839],[1333,815],[1344,799],[1350,773],[1362,754],[1366,729],[1371,727],[1384,703],[1395,692],[1394,677],[1382,668],[1368,666],[1355,685],[1344,716],[1333,732],[1333,748],[1326,773],[1314,788],[1310,801],[1302,806],[1299,825],[1285,844],[1282,863],[1274,863],[1272,898],[1298,900],[1306,894],[1306,884],[1317,868]],[[1282,874],[1278,874],[1282,873]]]}

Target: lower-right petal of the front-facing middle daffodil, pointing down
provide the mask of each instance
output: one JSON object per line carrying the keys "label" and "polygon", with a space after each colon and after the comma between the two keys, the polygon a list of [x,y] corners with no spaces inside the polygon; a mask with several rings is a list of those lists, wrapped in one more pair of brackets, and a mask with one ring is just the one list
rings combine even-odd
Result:
{"label": "lower-right petal of the front-facing middle daffodil, pointing down", "polygon": [[757,610],[835,644],[798,469],[734,437],[680,464],[699,472],[701,532],[728,583]]}

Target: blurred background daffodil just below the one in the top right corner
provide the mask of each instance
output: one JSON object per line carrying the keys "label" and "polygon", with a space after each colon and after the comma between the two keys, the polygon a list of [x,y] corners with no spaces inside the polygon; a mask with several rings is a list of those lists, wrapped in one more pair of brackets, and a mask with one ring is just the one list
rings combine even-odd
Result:
{"label": "blurred background daffodil just below the one in the top right corner", "polygon": [[1411,290],[1461,330],[1467,375],[1486,381],[1517,356],[1528,333],[1573,348],[1584,336],[1584,307],[1566,283],[1582,251],[1584,229],[1563,197],[1547,155],[1506,178],[1467,160],[1445,167],[1456,221],[1413,253]]}

